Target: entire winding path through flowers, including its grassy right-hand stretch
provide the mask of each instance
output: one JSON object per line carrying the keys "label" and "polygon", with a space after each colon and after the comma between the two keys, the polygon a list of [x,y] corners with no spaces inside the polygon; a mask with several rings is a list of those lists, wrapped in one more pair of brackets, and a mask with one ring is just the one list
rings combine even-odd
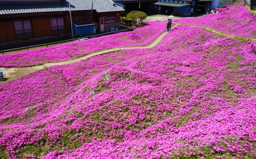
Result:
{"label": "entire winding path through flowers, including its grassy right-hand stretch", "polygon": [[[220,35],[220,36],[225,36],[225,37],[233,37],[233,38],[238,38],[241,40],[250,40],[250,41],[255,41],[256,38],[249,38],[249,37],[243,37],[243,36],[235,36],[235,35],[231,35],[231,34],[226,34],[226,33],[222,33],[222,32],[218,32],[215,29],[209,28],[209,27],[204,27],[204,26],[200,26],[200,25],[191,25],[191,24],[182,24],[182,23],[174,23],[175,25],[172,28],[177,27],[178,25],[187,25],[187,26],[195,26],[195,27],[201,27],[204,28],[205,30]],[[62,61],[62,62],[55,62],[55,63],[45,63],[43,65],[39,65],[39,66],[34,66],[34,67],[23,67],[23,68],[0,68],[1,71],[3,71],[4,77],[8,78],[7,81],[0,81],[0,83],[6,83],[8,81],[12,81],[15,80],[17,78],[20,78],[22,76],[25,76],[26,74],[32,73],[34,71],[38,71],[41,69],[45,69],[51,66],[55,66],[55,65],[63,65],[63,64],[71,64],[71,63],[76,63],[76,62],[81,62],[84,61],[88,58],[91,58],[93,56],[96,55],[102,55],[102,54],[106,54],[106,53],[110,53],[110,52],[114,52],[114,51],[118,51],[118,50],[124,50],[124,49],[134,49],[134,48],[153,48],[154,46],[156,46],[158,43],[161,42],[161,40],[165,37],[165,35],[168,34],[168,32],[163,32],[160,36],[158,36],[151,44],[146,45],[146,46],[136,46],[136,47],[115,47],[115,48],[111,48],[108,50],[101,50],[101,51],[97,51],[97,52],[93,52],[90,53],[88,55],[85,55],[83,57],[77,58],[77,59],[73,59],[73,60],[68,60],[68,61]]]}

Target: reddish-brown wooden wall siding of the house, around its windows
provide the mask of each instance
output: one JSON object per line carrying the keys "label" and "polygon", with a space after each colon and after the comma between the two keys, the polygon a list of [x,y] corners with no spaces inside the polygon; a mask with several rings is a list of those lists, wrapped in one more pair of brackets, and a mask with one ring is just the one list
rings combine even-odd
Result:
{"label": "reddish-brown wooden wall siding of the house, around its windows", "polygon": [[[86,14],[87,13],[87,14]],[[92,12],[92,20],[90,11],[72,11],[72,16],[79,16],[79,21],[87,21],[90,23],[98,23],[100,24],[100,17],[115,17],[115,22],[120,22],[120,11],[118,12],[104,12],[104,13],[97,13],[95,10]],[[84,19],[84,16],[87,18]],[[51,18],[64,18],[64,26],[65,30],[63,33],[52,33],[51,28]],[[33,37],[43,37],[43,36],[51,36],[51,35],[58,35],[58,34],[70,34],[71,27],[70,27],[70,16],[69,12],[47,12],[47,13],[36,13],[36,14],[17,14],[17,15],[0,15],[1,20],[0,22],[0,42],[8,42],[8,41],[16,41],[18,39],[27,39]],[[15,20],[31,20],[33,36],[31,37],[16,37],[15,28],[13,21]],[[99,33],[99,26],[98,26],[98,33]]]}

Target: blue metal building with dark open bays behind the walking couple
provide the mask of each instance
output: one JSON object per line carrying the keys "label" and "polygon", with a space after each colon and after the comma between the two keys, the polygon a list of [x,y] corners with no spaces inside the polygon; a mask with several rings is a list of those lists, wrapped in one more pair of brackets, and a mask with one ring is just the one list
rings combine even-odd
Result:
{"label": "blue metal building with dark open bays behind the walking couple", "polygon": [[223,0],[113,0],[125,6],[126,13],[140,10],[147,13],[189,17],[220,8]]}

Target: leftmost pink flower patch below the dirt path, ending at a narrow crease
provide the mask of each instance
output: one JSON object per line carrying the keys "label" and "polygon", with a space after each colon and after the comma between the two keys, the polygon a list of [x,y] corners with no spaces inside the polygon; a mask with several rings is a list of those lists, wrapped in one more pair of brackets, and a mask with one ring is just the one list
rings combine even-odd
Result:
{"label": "leftmost pink flower patch below the dirt path, ending at a narrow crease", "polygon": [[14,122],[17,118],[25,120],[25,116],[36,113],[36,108],[65,94],[69,86],[62,74],[56,67],[0,85],[0,122],[11,118]]}

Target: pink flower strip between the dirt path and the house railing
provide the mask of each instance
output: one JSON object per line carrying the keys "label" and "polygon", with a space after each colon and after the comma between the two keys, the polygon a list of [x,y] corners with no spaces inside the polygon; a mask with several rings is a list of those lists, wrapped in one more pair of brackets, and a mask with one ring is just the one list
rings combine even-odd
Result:
{"label": "pink flower strip between the dirt path and the house railing", "polygon": [[[136,28],[132,32],[118,33],[98,38],[92,38],[80,42],[66,43],[62,45],[30,50],[17,54],[1,55],[0,67],[27,67],[48,62],[60,62],[76,59],[89,53],[122,46],[148,45],[165,30],[163,22],[149,22],[142,28]],[[129,41],[129,43],[127,43]]]}

